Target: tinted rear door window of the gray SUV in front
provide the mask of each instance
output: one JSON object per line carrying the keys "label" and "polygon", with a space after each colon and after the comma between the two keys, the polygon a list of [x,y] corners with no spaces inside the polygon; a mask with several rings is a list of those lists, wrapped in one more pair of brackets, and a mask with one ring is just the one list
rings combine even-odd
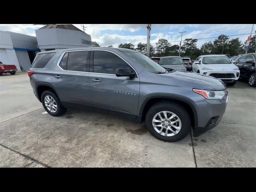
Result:
{"label": "tinted rear door window of the gray SUV in front", "polygon": [[88,51],[76,51],[68,53],[68,71],[85,72]]}

